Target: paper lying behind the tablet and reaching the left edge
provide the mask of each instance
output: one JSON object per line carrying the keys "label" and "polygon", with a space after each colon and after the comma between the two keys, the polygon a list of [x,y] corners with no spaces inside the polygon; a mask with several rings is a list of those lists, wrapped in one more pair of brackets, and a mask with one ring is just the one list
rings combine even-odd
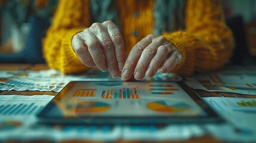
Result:
{"label": "paper lying behind the tablet and reaching the left edge", "polygon": [[[143,80],[180,81],[182,78],[173,73],[157,72],[152,78]],[[0,71],[0,90],[2,91],[55,91],[60,92],[70,81],[109,81],[113,79],[109,73],[97,69],[87,70],[82,74],[64,75],[58,70],[40,71]]]}

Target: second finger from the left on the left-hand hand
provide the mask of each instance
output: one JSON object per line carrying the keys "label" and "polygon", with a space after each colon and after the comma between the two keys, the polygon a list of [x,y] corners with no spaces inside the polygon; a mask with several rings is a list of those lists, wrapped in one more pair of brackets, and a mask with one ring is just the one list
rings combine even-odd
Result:
{"label": "second finger from the left on the left-hand hand", "polygon": [[92,60],[98,69],[101,71],[106,71],[106,62],[97,37],[89,29],[85,29],[84,32],[81,32],[80,36],[82,39],[84,39],[85,44],[88,46],[88,51],[90,52]]}

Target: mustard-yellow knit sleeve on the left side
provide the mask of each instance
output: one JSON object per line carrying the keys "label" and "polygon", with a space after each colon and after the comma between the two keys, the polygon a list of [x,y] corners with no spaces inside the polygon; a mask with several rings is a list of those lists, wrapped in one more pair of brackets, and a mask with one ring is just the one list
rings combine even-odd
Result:
{"label": "mustard-yellow knit sleeve on the left side", "polygon": [[71,46],[72,37],[89,24],[88,2],[88,0],[59,1],[53,23],[43,41],[44,57],[51,68],[63,73],[78,73],[88,68],[82,64]]}

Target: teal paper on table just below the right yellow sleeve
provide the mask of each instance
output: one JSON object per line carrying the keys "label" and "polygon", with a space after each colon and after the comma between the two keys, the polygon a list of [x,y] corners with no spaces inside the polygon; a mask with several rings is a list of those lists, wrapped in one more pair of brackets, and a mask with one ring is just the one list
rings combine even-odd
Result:
{"label": "teal paper on table just below the right yellow sleeve", "polygon": [[186,83],[193,89],[205,91],[233,92],[256,95],[256,68],[226,67],[215,73],[186,77]]}

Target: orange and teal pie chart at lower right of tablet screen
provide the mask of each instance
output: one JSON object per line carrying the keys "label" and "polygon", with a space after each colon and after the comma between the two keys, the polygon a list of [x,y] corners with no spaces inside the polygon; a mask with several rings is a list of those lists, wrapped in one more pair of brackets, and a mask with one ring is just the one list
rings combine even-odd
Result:
{"label": "orange and teal pie chart at lower right of tablet screen", "polygon": [[190,110],[190,105],[184,102],[167,104],[166,101],[153,101],[147,104],[147,108],[159,113],[184,113]]}

